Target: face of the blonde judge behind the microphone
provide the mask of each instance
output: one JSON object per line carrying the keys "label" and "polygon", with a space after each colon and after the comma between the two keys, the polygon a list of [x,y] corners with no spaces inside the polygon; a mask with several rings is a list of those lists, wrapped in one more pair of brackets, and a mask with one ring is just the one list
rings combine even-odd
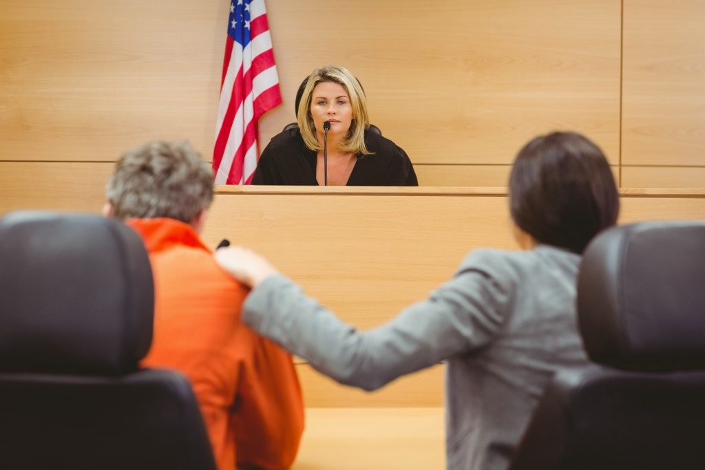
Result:
{"label": "face of the blonde judge behind the microphone", "polygon": [[345,87],[336,82],[320,82],[311,95],[311,116],[318,134],[323,134],[323,123],[330,121],[329,136],[347,135],[353,120],[353,106]]}

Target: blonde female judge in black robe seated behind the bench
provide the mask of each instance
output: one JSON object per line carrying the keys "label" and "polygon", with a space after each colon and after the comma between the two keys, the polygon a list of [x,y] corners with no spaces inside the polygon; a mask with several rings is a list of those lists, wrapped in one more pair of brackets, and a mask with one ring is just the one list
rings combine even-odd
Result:
{"label": "blonde female judge in black robe seated behind the bench", "polygon": [[314,70],[296,101],[298,127],[265,147],[253,185],[418,186],[406,152],[369,129],[364,90],[348,69]]}

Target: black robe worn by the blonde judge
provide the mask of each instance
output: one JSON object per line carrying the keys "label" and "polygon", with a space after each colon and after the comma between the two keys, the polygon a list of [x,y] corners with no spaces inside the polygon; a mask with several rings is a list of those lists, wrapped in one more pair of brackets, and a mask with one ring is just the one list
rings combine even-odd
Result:
{"label": "black robe worn by the blonde judge", "polygon": [[[348,186],[418,186],[414,166],[403,149],[369,130],[364,143],[371,155],[357,156]],[[304,144],[298,128],[272,137],[257,162],[253,185],[318,185],[316,151]]]}

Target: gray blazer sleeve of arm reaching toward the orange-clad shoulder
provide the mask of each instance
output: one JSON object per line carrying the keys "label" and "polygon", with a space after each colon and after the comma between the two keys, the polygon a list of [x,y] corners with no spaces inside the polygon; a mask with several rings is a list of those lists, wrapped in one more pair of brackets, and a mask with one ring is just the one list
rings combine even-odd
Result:
{"label": "gray blazer sleeve of arm reaching toward the orange-clad shoulder", "polygon": [[463,267],[427,300],[360,332],[278,275],[250,292],[243,319],[321,373],[375,390],[454,354],[488,345],[503,329],[512,295],[507,287],[486,271]]}

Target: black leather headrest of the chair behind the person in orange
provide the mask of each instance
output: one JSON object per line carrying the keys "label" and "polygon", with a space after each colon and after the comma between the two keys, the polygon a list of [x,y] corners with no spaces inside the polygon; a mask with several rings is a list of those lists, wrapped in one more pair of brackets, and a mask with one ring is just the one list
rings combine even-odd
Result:
{"label": "black leather headrest of the chair behind the person in orange", "polygon": [[4,216],[0,293],[0,371],[125,373],[151,345],[152,269],[119,221]]}

